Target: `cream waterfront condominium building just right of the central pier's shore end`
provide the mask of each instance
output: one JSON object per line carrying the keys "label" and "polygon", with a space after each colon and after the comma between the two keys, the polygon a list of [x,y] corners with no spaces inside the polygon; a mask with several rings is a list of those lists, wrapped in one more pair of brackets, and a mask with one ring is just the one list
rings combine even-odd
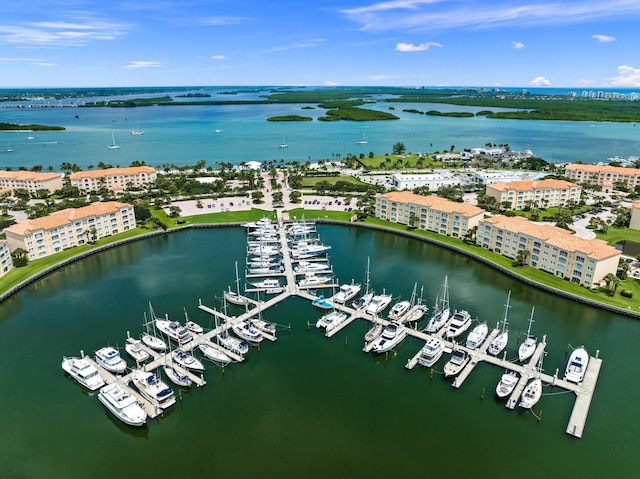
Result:
{"label": "cream waterfront condominium building just right of the central pier's shore end", "polygon": [[484,210],[469,203],[457,203],[439,196],[422,196],[410,191],[393,191],[376,198],[376,217],[408,225],[412,215],[419,229],[462,238],[477,226]]}

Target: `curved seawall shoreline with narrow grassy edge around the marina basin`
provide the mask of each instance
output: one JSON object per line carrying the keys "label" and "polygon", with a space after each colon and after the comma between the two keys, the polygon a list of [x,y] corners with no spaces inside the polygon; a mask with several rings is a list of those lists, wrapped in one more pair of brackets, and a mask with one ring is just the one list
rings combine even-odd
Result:
{"label": "curved seawall shoreline with narrow grassy edge around the marina basin", "polygon": [[[565,299],[569,299],[571,301],[576,301],[588,306],[592,306],[604,311],[608,311],[608,312],[612,312],[615,314],[620,314],[622,316],[627,316],[630,318],[635,318],[635,319],[640,319],[640,312],[634,311],[632,309],[625,309],[625,308],[620,308],[618,306],[614,306],[611,304],[607,304],[607,303],[603,303],[600,301],[595,301],[589,298],[586,298],[584,296],[580,296],[574,293],[570,293],[568,291],[563,291],[561,289],[558,288],[554,288],[553,286],[549,286],[546,285],[544,283],[540,283],[538,281],[534,281],[532,279],[529,279],[523,275],[520,275],[518,273],[516,273],[515,271],[512,271],[508,268],[505,268],[497,263],[494,263],[493,261],[487,259],[487,258],[483,258],[482,256],[476,255],[471,251],[467,251],[463,248],[459,248],[455,245],[452,244],[448,244],[442,241],[438,241],[436,239],[433,238],[428,238],[425,236],[421,236],[409,231],[401,231],[401,230],[397,230],[394,228],[387,228],[384,226],[380,226],[380,225],[372,225],[372,224],[366,224],[366,223],[352,223],[352,222],[347,222],[347,221],[342,221],[342,220],[334,220],[334,219],[328,219],[328,218],[317,218],[313,221],[316,221],[319,224],[328,224],[328,225],[335,225],[335,226],[346,226],[346,227],[357,227],[357,228],[366,228],[366,229],[370,229],[370,230],[374,230],[374,231],[381,231],[384,233],[391,233],[391,234],[397,234],[400,236],[404,236],[407,237],[409,239],[412,240],[417,240],[417,241],[422,241],[425,243],[430,243],[430,244],[434,244],[436,246],[439,247],[443,247],[446,248],[450,251],[453,251],[455,253],[464,255],[468,258],[471,258],[475,261],[479,261],[480,263],[483,263],[486,266],[489,266],[495,270],[500,271],[503,274],[506,274],[508,276],[510,276],[513,279],[516,279],[518,281],[520,281],[521,283],[527,285],[527,286],[531,286],[537,289],[540,289],[542,291],[545,291],[547,293],[551,293],[551,294],[555,294],[556,296],[560,296],[562,298]],[[292,222],[292,220],[287,220],[285,221],[286,223]],[[169,233],[173,233],[173,232],[179,232],[179,231],[184,231],[184,230],[188,230],[188,229],[198,229],[198,228],[233,228],[233,227],[240,227],[242,226],[242,222],[226,222],[226,223],[203,223],[203,224],[189,224],[189,225],[181,225],[181,226],[177,226],[174,228],[170,228],[167,229],[166,231],[152,231],[149,233],[143,233],[137,236],[132,236],[129,238],[125,238],[119,241],[114,241],[113,243],[109,243],[106,245],[102,245],[102,246],[98,246],[96,248],[93,248],[89,251],[85,251],[83,253],[77,254],[75,256],[72,256],[70,258],[66,258],[63,261],[60,261],[54,265],[51,265],[39,272],[37,272],[36,274],[30,276],[27,279],[22,280],[21,282],[19,282],[18,284],[12,286],[11,288],[9,288],[7,291],[5,291],[4,293],[0,294],[0,304],[2,304],[6,299],[10,298],[11,296],[13,296],[14,294],[16,294],[17,292],[19,292],[20,290],[22,290],[23,288],[27,287],[28,285],[32,284],[33,282],[37,281],[40,278],[43,278],[45,276],[47,276],[48,274],[56,271],[57,269],[60,269],[64,266],[67,266],[68,264],[74,263],[76,261],[79,261],[81,259],[84,259],[88,256],[100,253],[102,251],[106,251],[108,249],[117,247],[117,246],[121,246],[124,244],[128,244],[128,243],[132,243],[134,241],[140,241],[140,240],[144,240],[147,238],[151,238],[154,236],[161,236],[164,234],[169,234]]]}

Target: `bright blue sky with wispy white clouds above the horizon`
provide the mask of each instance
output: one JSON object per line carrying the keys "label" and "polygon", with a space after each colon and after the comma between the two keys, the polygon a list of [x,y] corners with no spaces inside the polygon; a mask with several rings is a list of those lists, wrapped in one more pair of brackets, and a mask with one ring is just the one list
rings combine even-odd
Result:
{"label": "bright blue sky with wispy white clouds above the horizon", "polygon": [[0,87],[640,88],[640,0],[6,3]]}

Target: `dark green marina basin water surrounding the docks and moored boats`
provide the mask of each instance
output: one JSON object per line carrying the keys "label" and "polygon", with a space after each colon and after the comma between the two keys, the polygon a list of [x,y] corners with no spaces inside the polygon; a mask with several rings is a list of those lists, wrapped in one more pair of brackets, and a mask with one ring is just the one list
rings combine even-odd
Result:
{"label": "dark green marina basin water surrounding the docks and moored boats", "polygon": [[[63,268],[0,308],[0,476],[3,478],[195,477],[633,477],[640,466],[634,380],[640,329],[634,320],[568,302],[446,250],[391,234],[319,228],[333,245],[339,278],[371,282],[408,298],[414,282],[433,302],[445,274],[451,304],[490,324],[512,291],[509,355],[526,328],[548,335],[545,370],[563,368],[570,343],[604,359],[583,439],[565,434],[573,405],[545,388],[542,420],[494,399],[502,371],[481,365],[461,389],[404,364],[421,344],[407,339],[385,357],[361,351],[364,323],[332,339],[319,312],[290,299],[265,312],[284,325],[275,343],[243,364],[208,367],[208,384],[182,392],[164,418],[142,430],[117,422],[94,394],[66,378],[63,355],[122,346],[137,335],[151,301],[204,326],[198,299],[219,304],[243,261],[240,229],[186,231],[119,247]],[[441,370],[441,360],[436,369]],[[485,397],[481,399],[483,389]]]}

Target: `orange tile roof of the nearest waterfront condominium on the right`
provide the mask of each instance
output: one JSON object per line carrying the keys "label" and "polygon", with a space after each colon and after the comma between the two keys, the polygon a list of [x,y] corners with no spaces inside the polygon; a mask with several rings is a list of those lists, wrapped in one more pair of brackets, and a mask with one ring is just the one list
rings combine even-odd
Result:
{"label": "orange tile roof of the nearest waterfront condominium on the right", "polygon": [[511,231],[512,233],[526,234],[533,238],[540,239],[549,245],[557,246],[566,251],[584,253],[590,258],[597,260],[620,254],[619,250],[613,246],[609,246],[606,241],[580,238],[572,235],[570,231],[565,229],[552,225],[534,223],[522,216],[494,216],[492,218],[485,218],[483,221],[493,224],[496,228]]}

